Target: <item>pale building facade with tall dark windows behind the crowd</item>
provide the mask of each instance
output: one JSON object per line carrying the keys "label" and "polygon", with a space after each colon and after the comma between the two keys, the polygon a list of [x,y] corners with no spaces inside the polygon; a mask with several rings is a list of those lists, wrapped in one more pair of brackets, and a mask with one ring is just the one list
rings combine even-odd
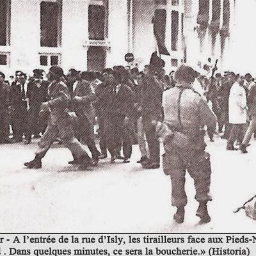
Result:
{"label": "pale building facade with tall dark windows behind the crowd", "polygon": [[134,54],[132,65],[142,68],[157,49],[153,18],[163,20],[157,29],[170,52],[162,56],[166,71],[184,62],[203,65],[208,58],[212,63],[218,59],[222,69],[235,68],[232,51],[241,47],[236,29],[243,17],[237,15],[237,10],[244,10],[241,2],[2,0],[0,69],[31,73],[33,68],[47,70],[58,64],[65,71],[102,70],[127,65],[127,52]]}

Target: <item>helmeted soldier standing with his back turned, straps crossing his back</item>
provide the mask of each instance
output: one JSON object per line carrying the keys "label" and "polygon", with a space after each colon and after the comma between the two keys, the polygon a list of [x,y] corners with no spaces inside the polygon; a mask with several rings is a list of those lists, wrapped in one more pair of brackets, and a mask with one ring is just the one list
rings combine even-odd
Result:
{"label": "helmeted soldier standing with his back turned, straps crossing his back", "polygon": [[197,75],[193,68],[181,65],[175,72],[177,84],[163,93],[164,122],[159,135],[164,140],[163,169],[172,180],[172,205],[177,207],[173,219],[177,223],[184,221],[187,204],[186,170],[195,180],[195,199],[199,202],[196,216],[204,223],[211,220],[207,212],[207,202],[211,201],[211,163],[205,152],[202,128],[215,127],[216,116],[192,88]]}

